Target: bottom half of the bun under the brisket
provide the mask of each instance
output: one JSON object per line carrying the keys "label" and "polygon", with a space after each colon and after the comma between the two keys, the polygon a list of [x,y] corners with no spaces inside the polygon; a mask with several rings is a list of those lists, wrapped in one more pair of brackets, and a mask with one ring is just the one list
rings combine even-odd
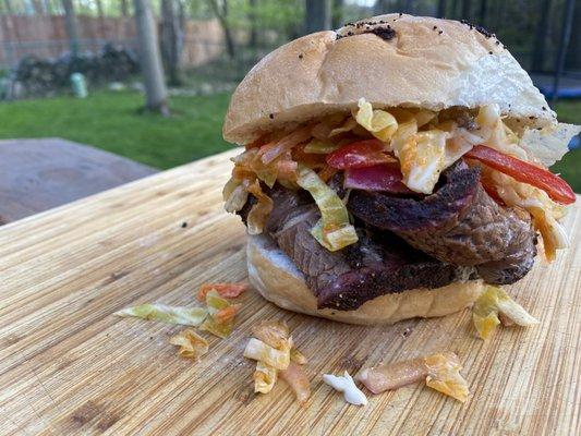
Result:
{"label": "bottom half of the bun under the brisket", "polygon": [[414,317],[444,316],[472,304],[481,294],[481,280],[456,282],[438,289],[412,289],[366,301],[354,311],[317,308],[303,274],[265,235],[249,235],[249,279],[277,306],[349,324],[394,324]]}

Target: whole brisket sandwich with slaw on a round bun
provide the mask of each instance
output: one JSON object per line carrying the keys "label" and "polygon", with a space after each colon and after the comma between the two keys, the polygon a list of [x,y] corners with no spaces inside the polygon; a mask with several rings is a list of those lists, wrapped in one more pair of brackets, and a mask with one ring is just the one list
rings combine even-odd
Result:
{"label": "whole brisket sandwich with slaw on a round bun", "polygon": [[293,40],[230,101],[223,189],[252,284],[353,324],[443,316],[567,247],[559,123],[507,48],[465,22],[387,14]]}

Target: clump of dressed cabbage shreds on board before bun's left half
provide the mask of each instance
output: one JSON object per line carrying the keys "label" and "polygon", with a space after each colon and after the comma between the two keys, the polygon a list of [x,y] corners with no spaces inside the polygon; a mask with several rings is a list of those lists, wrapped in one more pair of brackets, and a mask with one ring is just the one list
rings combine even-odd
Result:
{"label": "clump of dressed cabbage shreds on board before bun's left half", "polygon": [[286,323],[266,320],[252,328],[244,356],[256,361],[254,391],[268,393],[280,376],[293,389],[299,402],[311,397],[308,379],[301,365],[306,358],[293,347]]}

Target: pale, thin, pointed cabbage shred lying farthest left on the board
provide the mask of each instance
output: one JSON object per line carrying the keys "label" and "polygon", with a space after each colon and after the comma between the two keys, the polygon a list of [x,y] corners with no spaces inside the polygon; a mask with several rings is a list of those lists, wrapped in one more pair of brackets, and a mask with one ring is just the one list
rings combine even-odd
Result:
{"label": "pale, thin, pointed cabbage shred lying farthest left on the board", "polygon": [[167,304],[142,304],[126,307],[113,315],[136,317],[147,320],[159,320],[182,326],[199,326],[206,319],[208,312],[203,307],[169,306]]}

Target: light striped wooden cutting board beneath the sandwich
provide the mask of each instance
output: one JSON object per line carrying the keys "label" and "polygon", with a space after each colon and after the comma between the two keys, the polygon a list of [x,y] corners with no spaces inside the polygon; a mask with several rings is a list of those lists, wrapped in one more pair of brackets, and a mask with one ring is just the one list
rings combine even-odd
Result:
{"label": "light striped wooden cutting board beneath the sandwich", "polygon": [[[571,247],[510,289],[541,324],[486,342],[468,310],[361,327],[247,292],[234,334],[211,338],[192,363],[168,343],[180,327],[112,316],[145,302],[195,304],[201,283],[245,279],[243,226],[220,199],[234,153],[0,228],[0,434],[581,434],[579,207],[566,220]],[[287,320],[310,359],[307,408],[282,382],[252,391],[242,351],[267,318]],[[416,384],[356,408],[320,378],[445,350],[463,362],[464,404]]]}

